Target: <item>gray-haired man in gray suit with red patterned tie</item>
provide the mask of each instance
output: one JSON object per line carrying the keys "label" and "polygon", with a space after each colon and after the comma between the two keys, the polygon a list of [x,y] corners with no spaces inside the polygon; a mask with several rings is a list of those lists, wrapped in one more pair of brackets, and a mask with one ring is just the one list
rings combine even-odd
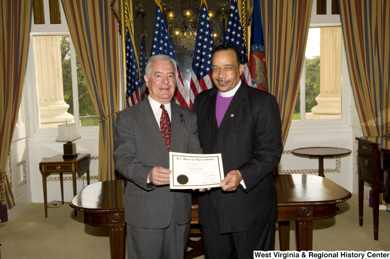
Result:
{"label": "gray-haired man in gray suit with red patterned tie", "polygon": [[202,153],[196,116],[174,102],[176,62],[149,58],[149,96],[117,114],[116,170],[127,180],[125,221],[129,259],[183,258],[191,221],[191,193],[171,190],[169,151]]}

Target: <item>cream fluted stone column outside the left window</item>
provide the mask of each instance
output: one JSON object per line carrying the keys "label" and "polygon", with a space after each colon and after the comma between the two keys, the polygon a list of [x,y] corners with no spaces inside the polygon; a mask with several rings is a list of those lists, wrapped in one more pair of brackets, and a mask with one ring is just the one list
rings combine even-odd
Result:
{"label": "cream fluted stone column outside the left window", "polygon": [[64,101],[59,36],[34,37],[40,127],[73,122]]}

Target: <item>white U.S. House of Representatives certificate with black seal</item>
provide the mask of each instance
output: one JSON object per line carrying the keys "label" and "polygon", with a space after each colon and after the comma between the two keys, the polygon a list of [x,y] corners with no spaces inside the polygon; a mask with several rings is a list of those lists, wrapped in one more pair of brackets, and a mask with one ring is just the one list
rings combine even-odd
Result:
{"label": "white U.S. House of Representatives certificate with black seal", "polygon": [[225,178],[221,154],[186,154],[169,152],[171,189],[220,187]]}

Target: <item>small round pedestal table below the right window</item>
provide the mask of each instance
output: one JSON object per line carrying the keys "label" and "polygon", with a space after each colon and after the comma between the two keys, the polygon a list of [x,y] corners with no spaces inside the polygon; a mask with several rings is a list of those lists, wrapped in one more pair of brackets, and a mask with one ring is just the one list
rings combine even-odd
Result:
{"label": "small round pedestal table below the right window", "polygon": [[313,147],[313,148],[296,148],[291,151],[293,155],[318,157],[318,175],[324,175],[324,157],[335,157],[348,155],[351,153],[347,148],[329,148],[329,147]]}

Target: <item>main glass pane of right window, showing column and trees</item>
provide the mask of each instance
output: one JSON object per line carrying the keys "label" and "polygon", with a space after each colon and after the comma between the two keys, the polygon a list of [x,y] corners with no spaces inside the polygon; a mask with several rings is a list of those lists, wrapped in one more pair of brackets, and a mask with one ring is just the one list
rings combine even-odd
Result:
{"label": "main glass pane of right window, showing column and trees", "polygon": [[341,26],[309,29],[293,120],[341,118],[341,37]]}

